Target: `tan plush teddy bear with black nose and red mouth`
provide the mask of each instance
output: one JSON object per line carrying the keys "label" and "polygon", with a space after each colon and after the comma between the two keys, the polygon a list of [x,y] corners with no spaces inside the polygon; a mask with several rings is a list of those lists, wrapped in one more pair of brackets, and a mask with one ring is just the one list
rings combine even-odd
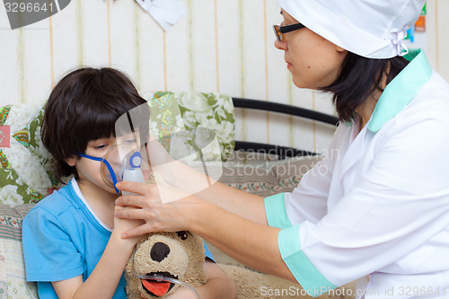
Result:
{"label": "tan plush teddy bear with black nose and red mouth", "polygon": [[[202,286],[207,277],[203,239],[194,233],[149,233],[136,244],[125,271],[128,299],[153,299],[171,295],[179,287],[170,281],[147,279],[159,275],[180,280],[189,286]],[[237,286],[238,298],[312,298],[301,286],[286,279],[248,268],[218,264]],[[345,290],[345,287],[347,288]],[[354,298],[348,286],[321,295],[321,299]]]}

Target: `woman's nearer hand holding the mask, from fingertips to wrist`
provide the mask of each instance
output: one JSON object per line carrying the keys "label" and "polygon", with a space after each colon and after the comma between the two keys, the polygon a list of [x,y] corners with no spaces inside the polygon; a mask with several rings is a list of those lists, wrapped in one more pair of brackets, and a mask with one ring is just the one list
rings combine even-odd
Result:
{"label": "woman's nearer hand holding the mask, from fingertips to wrist", "polygon": [[115,216],[121,219],[143,219],[145,224],[130,228],[123,238],[134,238],[151,232],[189,230],[189,220],[204,202],[193,195],[170,186],[122,181],[122,191],[139,195],[121,196],[116,200]]}

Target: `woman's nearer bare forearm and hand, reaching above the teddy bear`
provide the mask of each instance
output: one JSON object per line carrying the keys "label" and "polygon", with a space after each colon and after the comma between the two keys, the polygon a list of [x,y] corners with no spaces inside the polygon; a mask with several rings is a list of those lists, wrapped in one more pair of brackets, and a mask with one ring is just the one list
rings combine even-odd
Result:
{"label": "woman's nearer bare forearm and hand, reaching above the teddy bear", "polygon": [[[277,246],[278,228],[245,219],[196,196],[184,194],[182,198],[179,190],[170,187],[135,182],[121,182],[118,187],[143,195],[116,201],[119,206],[128,206],[116,211],[118,217],[145,220],[123,237],[189,230],[250,268],[295,281]],[[181,199],[161,204],[160,194]]]}

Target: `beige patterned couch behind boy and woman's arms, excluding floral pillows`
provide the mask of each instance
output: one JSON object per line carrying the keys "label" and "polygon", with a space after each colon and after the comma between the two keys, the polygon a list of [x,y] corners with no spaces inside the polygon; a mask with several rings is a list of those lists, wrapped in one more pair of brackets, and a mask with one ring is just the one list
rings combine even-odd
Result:
{"label": "beige patterned couch behind boy and woman's arms, excluding floral pillows", "polygon": [[[304,174],[286,173],[286,169],[305,171],[319,160],[320,157],[304,157],[269,163],[230,162],[225,165],[220,181],[260,196],[269,196],[295,188]],[[34,205],[0,205],[0,298],[38,298],[36,284],[25,279],[21,235],[23,217]],[[239,265],[215,247],[210,246],[210,250],[218,262]]]}

